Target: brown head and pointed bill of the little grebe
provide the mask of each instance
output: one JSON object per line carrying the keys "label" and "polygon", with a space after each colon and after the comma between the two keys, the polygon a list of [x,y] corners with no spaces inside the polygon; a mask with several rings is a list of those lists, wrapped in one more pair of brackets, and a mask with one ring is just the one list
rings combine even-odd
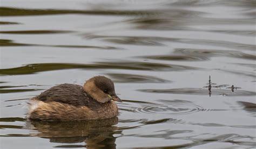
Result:
{"label": "brown head and pointed bill of the little grebe", "polygon": [[84,90],[99,103],[106,103],[110,100],[122,102],[114,91],[114,83],[104,76],[93,77],[86,81]]}

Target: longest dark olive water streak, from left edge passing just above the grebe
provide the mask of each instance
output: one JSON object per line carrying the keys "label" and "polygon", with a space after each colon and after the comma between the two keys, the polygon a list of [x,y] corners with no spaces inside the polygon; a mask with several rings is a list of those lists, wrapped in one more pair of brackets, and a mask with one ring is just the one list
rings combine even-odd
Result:
{"label": "longest dark olive water streak, from left edge passing just above the grebe", "polygon": [[30,64],[12,69],[0,69],[0,75],[26,75],[43,71],[66,70],[66,69],[125,69],[125,70],[158,70],[158,71],[181,71],[194,70],[196,67],[183,65],[168,65],[148,62],[97,62],[94,64],[74,64],[74,63],[44,63]]}

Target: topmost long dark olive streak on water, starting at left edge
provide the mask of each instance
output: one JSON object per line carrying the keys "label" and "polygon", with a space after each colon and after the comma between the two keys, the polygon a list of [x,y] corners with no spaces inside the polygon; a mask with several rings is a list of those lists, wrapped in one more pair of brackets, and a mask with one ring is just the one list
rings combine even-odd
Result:
{"label": "topmost long dark olive streak on water, starting at left edge", "polygon": [[21,9],[0,7],[0,16],[38,16],[38,15],[118,15],[118,16],[137,16],[150,15],[157,12],[140,10],[65,10],[65,9]]}

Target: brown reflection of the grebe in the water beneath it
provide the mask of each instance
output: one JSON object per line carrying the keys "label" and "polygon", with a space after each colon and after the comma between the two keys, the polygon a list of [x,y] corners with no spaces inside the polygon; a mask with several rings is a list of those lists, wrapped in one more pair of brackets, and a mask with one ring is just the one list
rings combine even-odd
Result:
{"label": "brown reflection of the grebe in the water beneath it", "polygon": [[50,139],[52,143],[86,143],[86,145],[60,145],[56,147],[116,148],[113,134],[121,133],[118,118],[88,121],[29,121],[27,126],[39,131],[32,136]]}

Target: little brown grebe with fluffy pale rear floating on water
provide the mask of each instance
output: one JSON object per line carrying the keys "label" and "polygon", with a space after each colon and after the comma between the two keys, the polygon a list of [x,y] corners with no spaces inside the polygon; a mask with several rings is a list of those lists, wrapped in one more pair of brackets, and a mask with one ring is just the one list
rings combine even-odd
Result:
{"label": "little brown grebe with fluffy pale rear floating on water", "polygon": [[60,84],[28,102],[28,118],[43,121],[106,119],[117,116],[114,101],[122,102],[111,79],[93,77],[84,86]]}

